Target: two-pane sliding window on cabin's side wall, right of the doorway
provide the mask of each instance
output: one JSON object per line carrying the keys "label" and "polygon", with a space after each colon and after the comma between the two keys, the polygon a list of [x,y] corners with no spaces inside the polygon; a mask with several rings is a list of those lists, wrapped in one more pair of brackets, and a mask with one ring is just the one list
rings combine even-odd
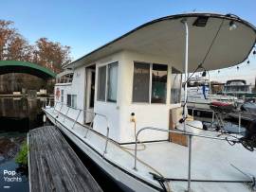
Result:
{"label": "two-pane sliding window on cabin's side wall, right of the doorway", "polygon": [[113,62],[99,67],[97,92],[98,100],[117,102],[118,77],[119,62]]}

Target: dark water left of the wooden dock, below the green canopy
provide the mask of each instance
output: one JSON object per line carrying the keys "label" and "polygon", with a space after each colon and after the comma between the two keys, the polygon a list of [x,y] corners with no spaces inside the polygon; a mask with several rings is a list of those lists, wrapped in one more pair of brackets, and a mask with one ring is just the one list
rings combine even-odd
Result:
{"label": "dark water left of the wooden dock, below the green canopy", "polygon": [[42,125],[40,99],[0,98],[0,191],[29,191],[27,167],[16,164],[15,157],[27,131]]}

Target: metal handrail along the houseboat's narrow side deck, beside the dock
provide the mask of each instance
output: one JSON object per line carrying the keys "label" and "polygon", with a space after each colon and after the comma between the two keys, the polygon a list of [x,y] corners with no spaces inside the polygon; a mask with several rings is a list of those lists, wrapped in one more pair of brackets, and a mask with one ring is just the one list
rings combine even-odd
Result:
{"label": "metal handrail along the houseboat's narrow side deck, beside the dock", "polygon": [[[57,106],[58,103],[61,103],[61,104],[62,104],[60,110],[57,110],[57,109],[56,109],[56,106]],[[106,135],[105,135],[106,142],[105,142],[105,148],[104,148],[103,155],[106,154],[106,153],[107,153],[107,146],[108,146],[108,142],[109,142],[109,123],[108,123],[108,118],[107,118],[107,116],[104,115],[104,114],[101,114],[101,113],[95,113],[95,112],[90,112],[90,111],[87,111],[87,110],[82,110],[82,109],[74,108],[74,107],[71,107],[71,106],[66,105],[64,102],[54,101],[54,109],[53,109],[53,110],[54,110],[54,111],[55,111],[55,110],[56,110],[56,111],[59,111],[58,114],[57,114],[56,117],[55,117],[55,121],[56,121],[56,118],[57,118],[57,117],[59,116],[59,114],[61,113],[61,110],[62,110],[63,106],[66,106],[66,107],[68,108],[68,109],[67,109],[67,113],[68,113],[69,109],[73,109],[73,110],[79,111],[78,115],[76,116],[76,119],[73,119],[73,118],[67,116],[67,113],[62,113],[62,114],[64,115],[64,119],[65,119],[66,117],[68,117],[69,119],[71,119],[72,121],[74,121],[74,124],[73,124],[73,126],[72,126],[72,129],[74,129],[75,125],[78,123],[78,119],[79,119],[79,117],[80,117],[81,112],[93,113],[93,114],[94,114],[94,117],[93,117],[93,120],[92,120],[92,121],[95,120],[95,117],[96,117],[97,115],[99,115],[99,116],[101,116],[101,117],[103,117],[103,118],[105,119],[106,124],[107,124],[107,128],[106,128]],[[88,128],[87,126],[85,126],[84,124],[82,124],[82,126],[87,129],[87,131],[86,131],[86,133],[85,133],[85,136],[84,136],[84,137],[86,138],[87,133],[88,133],[88,131],[89,131],[89,128]],[[92,126],[92,122],[91,122],[90,126]]]}

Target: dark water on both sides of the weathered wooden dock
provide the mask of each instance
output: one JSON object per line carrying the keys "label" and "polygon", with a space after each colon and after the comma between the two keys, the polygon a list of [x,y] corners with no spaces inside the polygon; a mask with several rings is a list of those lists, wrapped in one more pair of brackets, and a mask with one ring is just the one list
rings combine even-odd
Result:
{"label": "dark water on both sides of the weathered wooden dock", "polygon": [[[27,168],[16,164],[15,157],[22,143],[27,139],[27,131],[43,125],[42,105],[43,99],[0,98],[0,192],[29,191]],[[85,156],[80,148],[77,148],[68,138],[66,140],[104,191],[121,191],[119,186]],[[15,171],[15,177],[9,176],[15,181],[5,182],[4,170]],[[15,178],[20,178],[21,181]]]}

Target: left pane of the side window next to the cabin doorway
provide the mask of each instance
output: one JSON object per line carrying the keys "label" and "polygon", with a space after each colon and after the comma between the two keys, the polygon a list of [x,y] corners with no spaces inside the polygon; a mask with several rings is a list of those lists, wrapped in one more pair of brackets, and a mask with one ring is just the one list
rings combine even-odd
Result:
{"label": "left pane of the side window next to the cabin doorway", "polygon": [[97,98],[98,100],[105,101],[106,97],[106,66],[99,67],[98,73],[98,91]]}

